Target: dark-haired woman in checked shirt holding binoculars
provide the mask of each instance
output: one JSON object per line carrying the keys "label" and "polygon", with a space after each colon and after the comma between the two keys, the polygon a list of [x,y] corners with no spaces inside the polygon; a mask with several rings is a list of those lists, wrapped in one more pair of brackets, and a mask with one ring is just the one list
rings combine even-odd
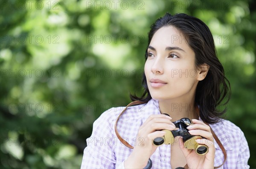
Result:
{"label": "dark-haired woman in checked shirt holding binoculars", "polygon": [[[223,163],[223,152],[227,158],[220,168],[249,168],[250,154],[243,132],[221,119],[225,110],[216,110],[224,97],[229,100],[230,84],[205,23],[186,14],[167,13],[151,26],[145,58],[145,92],[142,97],[131,96],[143,104],[128,107],[116,126],[130,148],[115,132],[115,121],[124,108],[109,109],[93,124],[81,168],[139,169],[150,158],[156,169],[212,169]],[[192,119],[189,134],[203,137],[196,141],[208,146],[207,154],[184,148],[181,137],[175,137],[171,145],[157,147],[152,143],[166,134],[162,130],[175,130],[172,122],[184,117]],[[213,139],[214,133],[223,146]]]}

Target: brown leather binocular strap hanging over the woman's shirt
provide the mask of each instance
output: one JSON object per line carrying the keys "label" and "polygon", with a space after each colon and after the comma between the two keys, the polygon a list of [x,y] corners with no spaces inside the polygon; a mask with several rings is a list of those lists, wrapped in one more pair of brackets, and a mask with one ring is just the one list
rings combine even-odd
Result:
{"label": "brown leather binocular strap hanging over the woman's shirt", "polygon": [[[118,120],[119,120],[119,117],[125,112],[125,110],[126,110],[129,106],[134,106],[134,105],[144,104],[144,103],[146,103],[146,102],[143,102],[143,101],[140,101],[140,100],[137,100],[137,101],[134,101],[134,102],[129,103],[129,104],[125,107],[125,109],[120,113],[120,115],[117,117],[117,119],[116,119],[116,123],[115,123],[115,133],[116,133],[116,136],[117,136],[117,138],[121,141],[121,143],[123,143],[125,146],[127,146],[127,147],[130,148],[130,149],[133,149],[134,147],[131,146],[127,141],[125,141],[125,140],[119,135],[119,133],[118,133],[118,131],[117,131],[117,127],[116,127],[116,126],[117,126],[117,122],[118,122]],[[198,109],[197,109],[196,111],[199,112]],[[206,124],[209,126],[208,123],[206,123]],[[218,143],[218,145],[220,146],[220,148],[221,148],[221,150],[222,150],[222,152],[223,152],[223,154],[224,154],[224,161],[223,161],[223,163],[222,163],[221,165],[219,165],[219,166],[215,166],[215,167],[214,167],[214,169],[218,169],[218,168],[220,168],[221,166],[223,166],[224,163],[225,163],[225,161],[227,160],[227,153],[226,153],[226,150],[225,150],[224,146],[221,144],[221,141],[218,139],[218,137],[217,137],[217,136],[215,135],[215,133],[213,132],[211,126],[209,126],[209,127],[210,127],[210,129],[211,129],[212,136],[214,137],[215,141]],[[184,169],[189,169],[188,164],[186,164],[183,168],[184,168]]]}

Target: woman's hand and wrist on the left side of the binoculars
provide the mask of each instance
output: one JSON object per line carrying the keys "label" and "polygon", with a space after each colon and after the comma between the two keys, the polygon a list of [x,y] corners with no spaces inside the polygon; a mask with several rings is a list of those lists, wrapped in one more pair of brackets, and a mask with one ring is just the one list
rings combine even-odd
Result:
{"label": "woman's hand and wrist on the left side of the binoculars", "polygon": [[140,126],[137,134],[137,142],[143,143],[135,145],[131,155],[125,160],[126,169],[144,168],[150,156],[156,151],[157,146],[152,144],[156,137],[162,137],[165,132],[163,129],[173,130],[175,125],[172,123],[172,118],[167,115],[150,115],[148,119]]}

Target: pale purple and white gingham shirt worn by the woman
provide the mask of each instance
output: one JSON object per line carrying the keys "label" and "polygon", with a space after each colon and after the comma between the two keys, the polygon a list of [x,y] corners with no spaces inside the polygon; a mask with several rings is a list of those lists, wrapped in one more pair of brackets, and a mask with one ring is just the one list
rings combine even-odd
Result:
{"label": "pale purple and white gingham shirt worn by the woman", "polygon": [[[91,137],[87,138],[81,169],[124,169],[124,161],[133,151],[123,145],[115,134],[115,121],[125,107],[111,108],[105,111],[94,123]],[[119,118],[117,130],[132,146],[143,144],[143,138],[136,141],[139,127],[150,115],[160,114],[157,100],[131,106]],[[220,169],[248,169],[249,147],[244,133],[228,120],[210,125],[227,152],[227,160]],[[219,166],[224,155],[216,143],[214,166]],[[152,169],[170,169],[171,145],[157,148],[150,159]]]}

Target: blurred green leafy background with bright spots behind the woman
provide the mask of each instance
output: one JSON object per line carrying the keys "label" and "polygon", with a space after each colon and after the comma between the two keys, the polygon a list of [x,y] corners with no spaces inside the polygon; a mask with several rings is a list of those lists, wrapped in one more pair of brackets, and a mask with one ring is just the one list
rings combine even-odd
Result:
{"label": "blurred green leafy background with bright spots behind the woman", "polygon": [[[203,20],[230,80],[226,117],[256,168],[254,0],[1,0],[0,168],[79,168],[93,121],[142,92],[149,26]],[[232,138],[231,138],[232,139]]]}

